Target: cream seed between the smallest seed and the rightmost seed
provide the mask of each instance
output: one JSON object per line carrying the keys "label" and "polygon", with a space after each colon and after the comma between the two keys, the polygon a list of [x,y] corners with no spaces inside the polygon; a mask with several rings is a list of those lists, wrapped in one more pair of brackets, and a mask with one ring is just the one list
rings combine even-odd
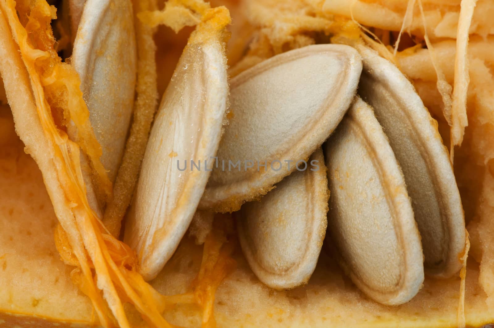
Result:
{"label": "cream seed between the smallest seed and the rightmost seed", "polygon": [[405,179],[371,107],[357,97],[325,145],[329,244],[375,301],[409,301],[424,280],[422,247]]}

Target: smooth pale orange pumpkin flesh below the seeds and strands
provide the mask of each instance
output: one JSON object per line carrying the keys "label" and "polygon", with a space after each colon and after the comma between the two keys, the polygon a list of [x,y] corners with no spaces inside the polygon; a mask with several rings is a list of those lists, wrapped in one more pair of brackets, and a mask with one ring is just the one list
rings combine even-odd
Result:
{"label": "smooth pale orange pumpkin flesh below the seeds and strands", "polygon": [[[32,323],[54,327],[63,322],[87,327],[94,323],[91,303],[72,283],[71,268],[59,260],[53,241],[56,219],[41,172],[24,153],[7,110],[1,108],[0,121],[10,130],[0,151],[0,327],[32,327]],[[151,282],[153,287],[165,295],[187,292],[201,266],[202,248],[186,235]],[[232,255],[237,269],[216,291],[218,327],[395,327],[397,322],[404,327],[456,326],[458,277],[437,280],[426,276],[424,287],[409,303],[384,306],[359,291],[325,248],[306,286],[278,291],[258,281],[238,246]],[[479,264],[469,260],[467,272],[466,322],[469,327],[480,327],[493,322],[494,316],[478,285]],[[183,327],[201,324],[193,305],[169,309],[165,318]]]}

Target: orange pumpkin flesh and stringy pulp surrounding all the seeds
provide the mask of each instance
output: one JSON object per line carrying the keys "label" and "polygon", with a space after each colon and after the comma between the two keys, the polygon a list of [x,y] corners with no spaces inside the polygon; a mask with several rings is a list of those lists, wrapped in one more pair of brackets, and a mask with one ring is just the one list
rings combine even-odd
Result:
{"label": "orange pumpkin flesh and stringy pulp surrounding all the seeds", "polygon": [[[113,177],[108,179],[108,169],[100,162],[101,145],[87,119],[91,109],[76,87],[78,73],[67,65],[70,59],[63,63],[57,52],[71,47],[61,26],[74,29],[81,13],[72,12],[72,20],[65,16],[64,22],[67,13],[61,10],[60,24],[50,25],[56,11],[44,0],[0,1],[0,30],[7,36],[0,44],[6,58],[0,64],[6,89],[5,95],[0,85],[0,327],[481,327],[494,322],[492,2],[245,0],[213,1],[211,7],[202,0],[165,5],[133,1],[134,110],[143,112],[134,112],[130,120],[112,200]],[[76,2],[70,10],[78,8]],[[230,14],[225,7],[214,7],[223,4]],[[233,25],[227,30],[230,15]],[[185,30],[171,36],[168,27],[159,25]],[[187,26],[194,25],[205,42],[211,33],[221,35],[230,78],[318,43],[365,45],[400,70],[440,134],[461,196],[465,251],[455,250],[457,259],[450,256],[458,263],[448,274],[436,274],[449,278],[433,278],[426,270],[423,286],[409,302],[385,306],[360,291],[327,252],[330,247],[322,247],[305,286],[275,290],[251,271],[232,216],[215,214],[207,223],[201,220],[212,214],[199,214],[191,218],[193,229],[165,260],[163,270],[149,284],[144,282],[134,250],[119,240],[118,232],[137,181],[157,93],[163,93],[172,74],[180,74],[173,69],[192,30]],[[52,26],[61,35],[58,42]],[[16,67],[10,69],[13,63]],[[67,88],[69,97],[57,87]],[[29,94],[25,99],[23,92]],[[5,98],[11,101],[14,119]],[[67,105],[69,100],[77,106]],[[235,108],[228,108],[223,124],[234,115]],[[90,174],[82,181],[84,158]],[[84,187],[88,179],[95,195]],[[108,202],[104,217],[103,211],[94,210],[92,198],[102,198],[99,205]],[[75,225],[70,217],[75,217]],[[462,218],[456,222],[461,233]],[[197,227],[203,228],[201,238]],[[433,244],[434,236],[430,238]],[[462,243],[455,249],[463,248]]]}

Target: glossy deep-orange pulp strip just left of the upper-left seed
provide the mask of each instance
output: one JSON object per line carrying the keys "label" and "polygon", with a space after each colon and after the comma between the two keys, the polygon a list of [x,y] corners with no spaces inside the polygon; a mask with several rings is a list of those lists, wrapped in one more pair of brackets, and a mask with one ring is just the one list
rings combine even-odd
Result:
{"label": "glossy deep-orange pulp strip just left of the upper-left seed", "polygon": [[[18,25],[13,29],[17,34],[17,41],[21,48],[24,62],[32,66],[30,75],[36,72],[38,77],[37,87],[42,89],[45,103],[44,109],[47,115],[57,114],[63,117],[57,123],[75,125],[76,133],[73,133],[71,141],[76,142],[82,151],[88,156],[91,165],[97,175],[98,187],[102,194],[111,195],[112,185],[108,179],[106,170],[99,160],[102,150],[89,121],[89,111],[82,99],[80,89],[81,81],[75,69],[63,63],[55,50],[55,39],[51,30],[51,19],[56,18],[56,9],[48,6],[45,1],[7,1],[11,8],[19,12]],[[9,19],[10,21],[10,19]],[[24,31],[24,33],[22,32]],[[52,113],[57,110],[62,113]],[[55,134],[65,138],[65,126],[53,126]]]}

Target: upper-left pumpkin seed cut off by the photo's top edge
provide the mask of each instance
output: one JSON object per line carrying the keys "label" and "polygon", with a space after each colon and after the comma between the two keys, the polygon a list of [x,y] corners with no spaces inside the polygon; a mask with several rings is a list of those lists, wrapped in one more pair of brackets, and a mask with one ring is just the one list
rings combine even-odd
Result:
{"label": "upper-left pumpkin seed cut off by the photo's top edge", "polygon": [[87,0],[72,53],[91,125],[103,150],[101,163],[112,182],[124,153],[134,100],[133,19],[130,0]]}

